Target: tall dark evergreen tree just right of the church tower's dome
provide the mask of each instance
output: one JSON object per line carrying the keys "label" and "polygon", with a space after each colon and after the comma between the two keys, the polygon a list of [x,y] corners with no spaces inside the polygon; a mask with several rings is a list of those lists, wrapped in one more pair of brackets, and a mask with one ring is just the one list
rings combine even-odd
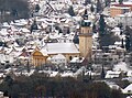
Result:
{"label": "tall dark evergreen tree just right of the church tower's dome", "polygon": [[99,20],[99,34],[102,35],[105,34],[105,32],[106,32],[106,22],[103,14],[101,14]]}

